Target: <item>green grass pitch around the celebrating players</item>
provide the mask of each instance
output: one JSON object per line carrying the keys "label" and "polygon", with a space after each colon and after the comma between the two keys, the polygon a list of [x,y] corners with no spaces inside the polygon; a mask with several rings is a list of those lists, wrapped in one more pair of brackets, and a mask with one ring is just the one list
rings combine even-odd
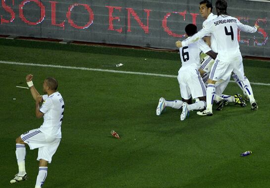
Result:
{"label": "green grass pitch around the celebrating players", "polygon": [[[0,39],[0,60],[177,75],[179,54]],[[146,60],[145,60],[146,59]],[[124,66],[115,68],[114,64]],[[244,60],[251,82],[270,83],[270,62]],[[160,97],[179,99],[176,78],[0,64],[0,188],[34,188],[37,150],[27,147],[29,179],[16,185],[15,139],[38,128],[25,76],[54,76],[65,102],[62,140],[44,188],[269,188],[270,86],[252,85],[259,110],[230,104],[211,117],[156,115]],[[226,94],[240,92],[229,83]],[[16,100],[13,100],[16,99]],[[110,135],[119,133],[117,140]],[[253,153],[240,157],[240,153]]]}

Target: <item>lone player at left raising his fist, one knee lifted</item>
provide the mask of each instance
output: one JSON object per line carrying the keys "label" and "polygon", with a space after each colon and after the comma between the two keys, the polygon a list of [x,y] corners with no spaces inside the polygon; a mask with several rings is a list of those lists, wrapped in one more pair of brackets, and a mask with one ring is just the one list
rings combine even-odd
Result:
{"label": "lone player at left raising his fist, one knee lifted", "polygon": [[[19,172],[10,180],[11,184],[26,180],[25,171],[25,145],[30,150],[38,151],[39,173],[35,188],[41,188],[48,174],[48,163],[57,150],[61,140],[61,124],[64,113],[64,101],[61,94],[56,91],[58,82],[53,77],[48,77],[43,82],[43,91],[46,95],[40,95],[33,84],[33,75],[27,75],[26,81],[31,94],[36,101],[36,117],[44,117],[44,122],[38,129],[27,131],[16,139],[16,157]],[[43,102],[40,107],[40,103]]]}

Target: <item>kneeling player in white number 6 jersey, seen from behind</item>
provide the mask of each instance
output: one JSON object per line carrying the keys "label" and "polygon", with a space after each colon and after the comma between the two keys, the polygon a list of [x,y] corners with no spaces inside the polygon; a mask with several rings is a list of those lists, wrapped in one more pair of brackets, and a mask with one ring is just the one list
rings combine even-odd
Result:
{"label": "kneeling player in white number 6 jersey, seen from behind", "polygon": [[[193,24],[189,24],[186,26],[185,32],[188,37],[191,37],[197,33],[197,27]],[[160,115],[165,107],[175,109],[183,107],[180,120],[184,120],[189,111],[202,110],[206,107],[206,86],[198,71],[200,67],[200,53],[203,51],[214,58],[216,57],[216,53],[213,52],[202,39],[186,47],[179,48],[179,51],[182,66],[178,71],[177,79],[182,101],[166,101],[162,97],[160,98],[156,113],[157,115]],[[199,100],[196,101],[196,103],[191,104],[191,97],[193,99],[198,98]]]}

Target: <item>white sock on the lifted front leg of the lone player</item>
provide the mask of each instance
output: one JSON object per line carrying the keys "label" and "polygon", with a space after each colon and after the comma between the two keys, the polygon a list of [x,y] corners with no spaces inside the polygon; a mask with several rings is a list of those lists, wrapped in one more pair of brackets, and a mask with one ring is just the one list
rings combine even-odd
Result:
{"label": "white sock on the lifted front leg of the lone player", "polygon": [[26,174],[25,171],[25,155],[26,155],[26,149],[24,144],[16,144],[16,157],[17,157],[17,163],[19,167],[19,176],[24,176]]}

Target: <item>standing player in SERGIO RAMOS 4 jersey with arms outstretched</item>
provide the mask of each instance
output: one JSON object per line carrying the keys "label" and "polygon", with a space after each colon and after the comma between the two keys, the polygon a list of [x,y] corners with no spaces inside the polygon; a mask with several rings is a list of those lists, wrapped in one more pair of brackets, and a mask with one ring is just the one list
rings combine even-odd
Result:
{"label": "standing player in SERGIO RAMOS 4 jersey with arms outstretched", "polygon": [[[176,46],[182,47],[187,46],[198,39],[205,37],[208,34],[215,38],[217,47],[217,57],[214,65],[212,66],[210,77],[208,80],[207,87],[207,109],[199,115],[213,115],[213,99],[216,92],[216,81],[219,79],[226,79],[232,72],[234,72],[242,85],[244,84],[244,67],[241,52],[239,50],[239,44],[237,40],[237,30],[247,33],[255,33],[259,26],[255,25],[250,27],[239,22],[238,19],[228,16],[227,12],[227,2],[225,0],[216,1],[216,12],[218,17],[211,20],[205,28],[200,32],[188,38],[187,40],[181,42],[176,41]],[[246,85],[244,86],[246,87]],[[251,109],[257,110],[258,106],[251,92],[249,93],[251,99]]]}

